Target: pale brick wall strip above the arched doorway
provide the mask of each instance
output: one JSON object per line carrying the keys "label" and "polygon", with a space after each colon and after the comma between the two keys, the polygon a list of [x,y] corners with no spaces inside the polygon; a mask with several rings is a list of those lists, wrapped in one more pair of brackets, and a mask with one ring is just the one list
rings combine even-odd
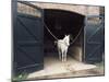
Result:
{"label": "pale brick wall strip above the arched doorway", "polygon": [[83,15],[97,15],[99,14],[99,7],[92,5],[77,5],[77,4],[62,4],[62,3],[43,3],[34,2],[33,4],[43,9],[58,9],[76,12]]}

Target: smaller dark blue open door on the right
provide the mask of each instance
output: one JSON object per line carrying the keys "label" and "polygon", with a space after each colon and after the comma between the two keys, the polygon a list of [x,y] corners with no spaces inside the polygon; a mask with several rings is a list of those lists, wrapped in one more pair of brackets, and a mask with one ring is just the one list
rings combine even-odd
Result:
{"label": "smaller dark blue open door on the right", "polygon": [[102,60],[104,49],[104,16],[86,16],[84,27],[85,61],[89,63]]}

